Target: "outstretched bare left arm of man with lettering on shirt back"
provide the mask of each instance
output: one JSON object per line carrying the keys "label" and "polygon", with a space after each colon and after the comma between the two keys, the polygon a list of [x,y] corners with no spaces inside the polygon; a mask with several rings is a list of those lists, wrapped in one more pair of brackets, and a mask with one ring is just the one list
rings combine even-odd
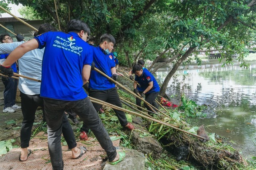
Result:
{"label": "outstretched bare left arm of man with lettering on shirt back", "polygon": [[9,54],[7,59],[2,64],[5,67],[11,66],[15,61],[21,58],[25,53],[33,49],[38,48],[38,42],[35,39],[29,40],[28,42],[22,43],[15,48],[12,53]]}

